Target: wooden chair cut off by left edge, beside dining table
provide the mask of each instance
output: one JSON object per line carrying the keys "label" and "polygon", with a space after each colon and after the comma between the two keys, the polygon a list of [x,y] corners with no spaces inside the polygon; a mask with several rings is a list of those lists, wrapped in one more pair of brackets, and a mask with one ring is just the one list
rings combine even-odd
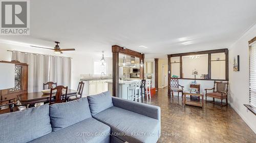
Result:
{"label": "wooden chair cut off by left edge, beside dining table", "polygon": [[[17,104],[17,101],[15,98],[0,101],[0,114],[17,111],[18,107],[15,106],[16,104]],[[9,106],[9,108],[2,109],[2,107],[4,106]]]}

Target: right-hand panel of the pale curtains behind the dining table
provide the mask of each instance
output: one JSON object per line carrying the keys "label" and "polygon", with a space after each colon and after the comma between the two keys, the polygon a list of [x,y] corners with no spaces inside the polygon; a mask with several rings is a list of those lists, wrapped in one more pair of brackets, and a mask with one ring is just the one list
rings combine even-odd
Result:
{"label": "right-hand panel of the pale curtains behind the dining table", "polygon": [[52,56],[50,58],[50,81],[71,88],[71,59]]}

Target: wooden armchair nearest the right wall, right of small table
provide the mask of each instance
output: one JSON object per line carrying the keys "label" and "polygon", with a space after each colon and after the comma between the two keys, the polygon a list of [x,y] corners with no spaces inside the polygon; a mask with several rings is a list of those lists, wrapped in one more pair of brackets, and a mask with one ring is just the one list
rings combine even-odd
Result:
{"label": "wooden armchair nearest the right wall, right of small table", "polygon": [[[213,92],[208,93],[207,91],[213,90]],[[214,102],[215,104],[219,104],[215,102],[215,98],[221,99],[221,106],[226,106],[228,104],[227,101],[228,95],[228,82],[223,81],[214,81],[214,88],[212,89],[205,89],[205,101],[206,102]],[[213,101],[207,101],[207,96],[212,97]],[[226,99],[226,104],[223,105],[222,100]]]}

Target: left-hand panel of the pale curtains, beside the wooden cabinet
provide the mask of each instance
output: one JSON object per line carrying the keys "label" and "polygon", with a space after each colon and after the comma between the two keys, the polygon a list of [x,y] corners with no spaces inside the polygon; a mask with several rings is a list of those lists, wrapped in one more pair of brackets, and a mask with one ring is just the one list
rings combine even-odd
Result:
{"label": "left-hand panel of the pale curtains, beside the wooden cabinet", "polygon": [[28,92],[38,92],[43,89],[42,83],[49,79],[49,55],[12,52],[12,60],[29,65]]}

